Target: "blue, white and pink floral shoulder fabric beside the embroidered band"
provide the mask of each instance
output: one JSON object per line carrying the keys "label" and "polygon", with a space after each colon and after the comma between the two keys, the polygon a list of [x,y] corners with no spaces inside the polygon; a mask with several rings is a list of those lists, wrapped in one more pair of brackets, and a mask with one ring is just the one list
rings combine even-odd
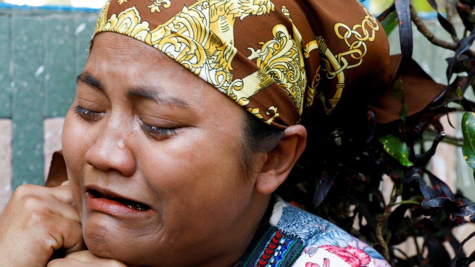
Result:
{"label": "blue, white and pink floral shoulder fabric beside the embroidered band", "polygon": [[293,266],[390,266],[365,242],[280,198],[274,205],[270,224],[303,241],[304,249]]}

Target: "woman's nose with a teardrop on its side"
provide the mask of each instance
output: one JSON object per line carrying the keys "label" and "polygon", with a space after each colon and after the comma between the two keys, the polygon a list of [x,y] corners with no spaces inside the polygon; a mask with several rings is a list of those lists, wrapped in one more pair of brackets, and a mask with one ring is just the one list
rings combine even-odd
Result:
{"label": "woman's nose with a teardrop on its side", "polygon": [[96,142],[86,151],[85,160],[101,171],[117,171],[130,177],[135,173],[136,164],[127,142],[127,130],[124,130],[127,126],[116,125],[108,123],[101,127]]}

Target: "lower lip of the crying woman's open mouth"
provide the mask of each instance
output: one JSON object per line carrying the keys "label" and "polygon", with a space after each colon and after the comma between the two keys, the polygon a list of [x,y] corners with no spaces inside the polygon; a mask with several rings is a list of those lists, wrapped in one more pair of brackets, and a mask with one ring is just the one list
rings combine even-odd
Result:
{"label": "lower lip of the crying woman's open mouth", "polygon": [[153,212],[151,209],[146,211],[138,211],[130,209],[126,205],[107,198],[94,198],[91,194],[86,193],[86,207],[93,211],[109,214],[114,217],[121,218],[144,218],[150,216]]}

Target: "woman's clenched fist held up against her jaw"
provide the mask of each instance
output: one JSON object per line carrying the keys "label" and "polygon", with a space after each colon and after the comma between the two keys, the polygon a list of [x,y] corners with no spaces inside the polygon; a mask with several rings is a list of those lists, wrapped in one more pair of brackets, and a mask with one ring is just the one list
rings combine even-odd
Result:
{"label": "woman's clenched fist held up against her jaw", "polygon": [[46,266],[56,249],[84,249],[81,220],[68,182],[22,185],[0,214],[0,266]]}

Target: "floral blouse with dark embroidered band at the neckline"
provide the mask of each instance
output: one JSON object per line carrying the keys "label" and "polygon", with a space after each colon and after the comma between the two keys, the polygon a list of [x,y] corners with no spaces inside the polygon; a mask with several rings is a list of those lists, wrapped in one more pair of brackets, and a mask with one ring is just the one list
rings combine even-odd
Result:
{"label": "floral blouse with dark embroidered band at the neckline", "polygon": [[[389,267],[369,245],[277,197],[268,227],[239,266]],[[256,238],[255,238],[256,239]]]}

